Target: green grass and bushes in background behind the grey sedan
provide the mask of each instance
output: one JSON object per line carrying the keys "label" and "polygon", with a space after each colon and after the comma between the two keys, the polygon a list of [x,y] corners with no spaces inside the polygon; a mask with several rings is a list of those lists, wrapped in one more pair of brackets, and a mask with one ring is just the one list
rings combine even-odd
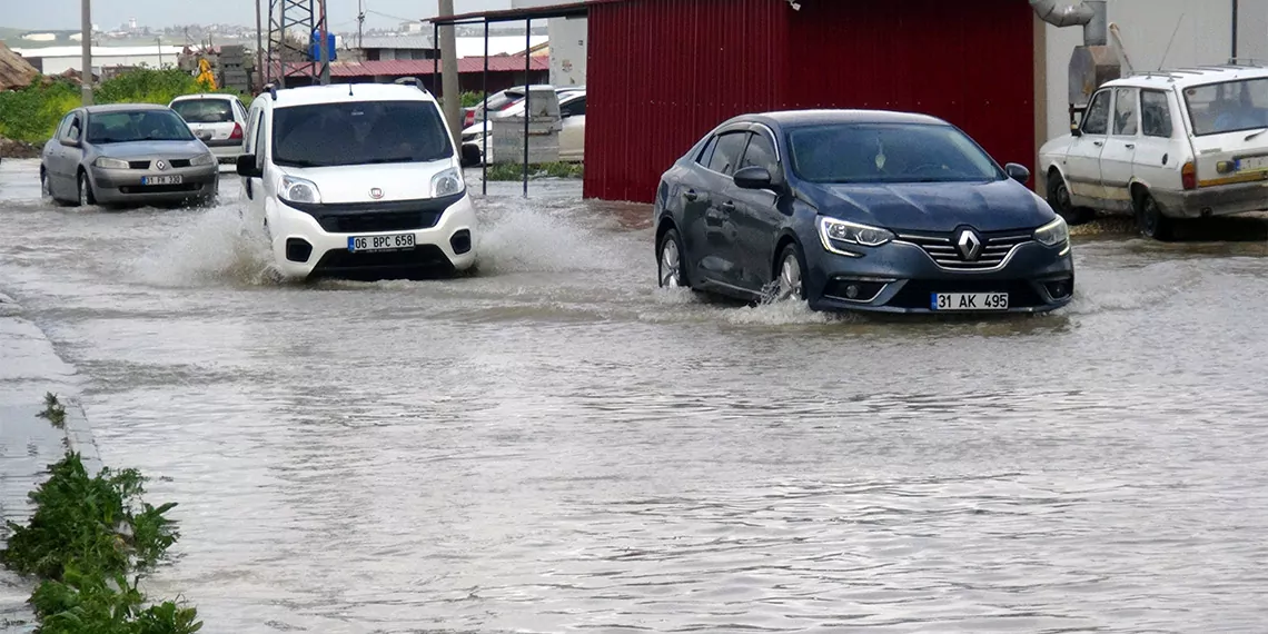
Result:
{"label": "green grass and bushes in background behind the grey sedan", "polygon": [[[62,117],[80,107],[79,85],[65,79],[46,79],[38,77],[23,90],[0,93],[0,137],[43,145]],[[176,96],[198,93],[204,93],[203,85],[183,70],[137,68],[103,81],[94,90],[93,100],[98,104],[167,105]],[[242,98],[235,90],[214,93]]]}

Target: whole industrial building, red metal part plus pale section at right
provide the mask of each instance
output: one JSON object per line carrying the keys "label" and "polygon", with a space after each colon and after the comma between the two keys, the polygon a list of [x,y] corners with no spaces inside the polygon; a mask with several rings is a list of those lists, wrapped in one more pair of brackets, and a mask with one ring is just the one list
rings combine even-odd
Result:
{"label": "whole industrial building, red metal part plus pale section at right", "polygon": [[[1032,4],[1077,15],[1098,3],[519,0],[453,22],[583,19],[585,195],[650,202],[659,175],[696,139],[753,110],[928,113],[1000,162],[1033,167],[1038,146],[1069,129],[1069,68],[1084,29],[1044,22]],[[1268,0],[1099,4],[1137,70],[1268,57]],[[1083,70],[1102,72],[1104,60],[1101,48]],[[1117,55],[1111,62],[1123,66]]]}

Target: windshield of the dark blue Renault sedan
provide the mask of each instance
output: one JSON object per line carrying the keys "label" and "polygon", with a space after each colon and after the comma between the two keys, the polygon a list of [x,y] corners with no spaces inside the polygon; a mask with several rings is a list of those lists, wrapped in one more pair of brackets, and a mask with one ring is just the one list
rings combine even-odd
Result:
{"label": "windshield of the dark blue Renault sedan", "polygon": [[976,143],[950,126],[838,123],[789,133],[792,170],[812,183],[1003,180]]}

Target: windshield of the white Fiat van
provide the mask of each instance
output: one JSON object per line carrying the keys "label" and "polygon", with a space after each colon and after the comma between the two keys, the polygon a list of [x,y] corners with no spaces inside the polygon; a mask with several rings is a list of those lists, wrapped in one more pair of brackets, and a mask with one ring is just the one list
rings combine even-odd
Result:
{"label": "windshield of the white Fiat van", "polygon": [[430,101],[351,101],[276,109],[273,155],[293,167],[426,162],[453,143]]}

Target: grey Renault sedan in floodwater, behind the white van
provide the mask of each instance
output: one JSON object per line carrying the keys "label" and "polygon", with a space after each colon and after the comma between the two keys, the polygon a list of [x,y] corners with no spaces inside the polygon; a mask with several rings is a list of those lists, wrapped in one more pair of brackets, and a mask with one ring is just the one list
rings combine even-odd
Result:
{"label": "grey Renault sedan in floodwater, behind the white van", "polygon": [[90,105],[62,118],[39,162],[46,198],[72,205],[214,202],[216,156],[171,108]]}

